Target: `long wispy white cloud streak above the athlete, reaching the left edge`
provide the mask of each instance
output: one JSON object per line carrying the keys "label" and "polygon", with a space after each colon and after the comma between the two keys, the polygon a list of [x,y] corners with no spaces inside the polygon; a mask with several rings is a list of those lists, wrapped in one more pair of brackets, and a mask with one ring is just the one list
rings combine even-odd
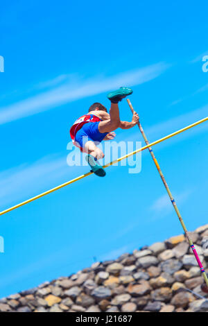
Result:
{"label": "long wispy white cloud streak above the athlete, reaching the left edge", "polygon": [[[29,117],[33,114],[50,110],[51,108],[76,101],[80,98],[101,94],[120,87],[121,85],[134,86],[146,83],[162,74],[168,67],[170,66],[163,62],[159,62],[155,65],[128,71],[108,78],[94,78],[85,81],[78,81],[77,78],[75,78],[47,92],[0,108],[0,124],[15,121],[23,117]],[[46,85],[40,85],[40,87],[56,85],[56,83],[60,83],[65,78],[66,76],[59,76],[51,80],[51,82],[47,82]],[[68,80],[68,78],[66,80]]]}

